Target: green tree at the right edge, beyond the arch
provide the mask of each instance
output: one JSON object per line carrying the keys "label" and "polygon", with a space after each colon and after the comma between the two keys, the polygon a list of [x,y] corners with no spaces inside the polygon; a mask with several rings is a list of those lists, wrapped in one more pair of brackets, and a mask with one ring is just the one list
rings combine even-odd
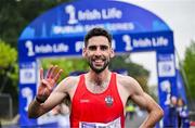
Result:
{"label": "green tree at the right edge, beyond the arch", "polygon": [[195,99],[195,41],[192,41],[191,46],[187,47],[185,51],[183,68],[185,71],[186,80],[188,82],[188,94]]}

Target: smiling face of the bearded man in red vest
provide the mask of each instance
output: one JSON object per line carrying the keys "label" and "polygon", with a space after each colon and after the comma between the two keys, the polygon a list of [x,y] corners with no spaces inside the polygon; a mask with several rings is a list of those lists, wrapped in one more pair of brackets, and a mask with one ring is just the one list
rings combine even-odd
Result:
{"label": "smiling face of the bearded man in red vest", "polygon": [[106,37],[94,36],[88,40],[88,46],[83,49],[83,56],[92,71],[101,73],[109,64],[110,57],[114,56],[114,51]]}

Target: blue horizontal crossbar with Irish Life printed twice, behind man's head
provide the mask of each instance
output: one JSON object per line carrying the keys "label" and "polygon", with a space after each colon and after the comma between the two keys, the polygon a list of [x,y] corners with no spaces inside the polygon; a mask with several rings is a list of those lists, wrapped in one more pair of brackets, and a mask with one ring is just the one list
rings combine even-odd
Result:
{"label": "blue horizontal crossbar with Irish Life printed twice, behind man's head", "polygon": [[[83,37],[21,40],[20,60],[51,56],[81,55]],[[115,52],[157,51],[173,49],[172,31],[118,34],[113,36]]]}

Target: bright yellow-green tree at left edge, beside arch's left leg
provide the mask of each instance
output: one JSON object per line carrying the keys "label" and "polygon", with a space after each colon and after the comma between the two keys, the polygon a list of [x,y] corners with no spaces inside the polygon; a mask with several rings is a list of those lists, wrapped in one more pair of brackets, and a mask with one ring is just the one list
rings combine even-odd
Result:
{"label": "bright yellow-green tree at left edge, beside arch's left leg", "polygon": [[11,94],[15,108],[14,112],[17,111],[16,98],[18,93],[18,66],[16,61],[16,50],[0,40],[0,93]]}

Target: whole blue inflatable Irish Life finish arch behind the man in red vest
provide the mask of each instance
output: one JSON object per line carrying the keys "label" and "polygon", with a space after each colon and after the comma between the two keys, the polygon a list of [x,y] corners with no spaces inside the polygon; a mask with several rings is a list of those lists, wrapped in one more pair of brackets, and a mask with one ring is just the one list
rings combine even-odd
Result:
{"label": "whole blue inflatable Irish Life finish arch behind the man in red vest", "polygon": [[162,107],[176,94],[173,33],[154,13],[136,5],[110,0],[79,0],[53,8],[21,34],[20,113],[22,125],[41,124],[27,118],[27,106],[36,95],[37,59],[81,55],[83,36],[92,27],[104,27],[113,34],[116,53],[156,51],[158,93]]}

